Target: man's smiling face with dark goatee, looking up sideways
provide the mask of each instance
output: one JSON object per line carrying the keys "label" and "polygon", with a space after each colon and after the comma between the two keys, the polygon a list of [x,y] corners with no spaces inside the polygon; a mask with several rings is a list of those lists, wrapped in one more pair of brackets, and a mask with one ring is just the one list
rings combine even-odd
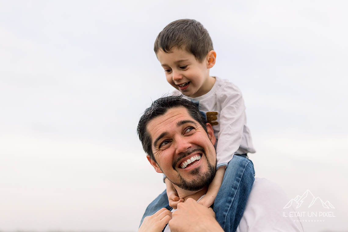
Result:
{"label": "man's smiling face with dark goatee, looking up sideways", "polygon": [[[148,160],[157,172],[163,172],[173,184],[190,191],[198,191],[212,181],[216,153],[214,131],[209,123],[206,133],[184,107],[175,107],[152,119],[147,131],[157,162],[149,156]],[[193,162],[189,163],[191,158]]]}

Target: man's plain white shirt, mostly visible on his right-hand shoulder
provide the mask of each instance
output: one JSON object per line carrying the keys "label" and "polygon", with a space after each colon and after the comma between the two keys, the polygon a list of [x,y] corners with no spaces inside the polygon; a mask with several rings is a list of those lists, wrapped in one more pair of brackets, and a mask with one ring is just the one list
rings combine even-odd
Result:
{"label": "man's plain white shirt, mostly visible on his right-hand shoulder", "polygon": [[[292,207],[283,209],[288,201],[286,194],[277,184],[256,177],[236,232],[303,232],[298,217],[283,216],[294,211]],[[174,211],[175,209],[172,210]],[[170,232],[168,225],[164,231]]]}

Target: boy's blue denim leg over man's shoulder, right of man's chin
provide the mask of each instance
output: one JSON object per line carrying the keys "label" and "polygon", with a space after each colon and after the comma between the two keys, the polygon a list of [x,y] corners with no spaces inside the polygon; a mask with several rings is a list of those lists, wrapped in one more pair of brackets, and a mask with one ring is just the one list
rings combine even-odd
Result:
{"label": "boy's blue denim leg over man's shoulder, right of man's chin", "polygon": [[213,207],[216,220],[225,232],[237,230],[254,180],[253,163],[234,155],[228,163]]}

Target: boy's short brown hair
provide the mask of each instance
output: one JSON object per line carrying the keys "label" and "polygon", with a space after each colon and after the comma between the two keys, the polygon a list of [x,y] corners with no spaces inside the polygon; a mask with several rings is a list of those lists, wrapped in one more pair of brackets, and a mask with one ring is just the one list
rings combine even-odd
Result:
{"label": "boy's short brown hair", "polygon": [[173,47],[187,50],[200,63],[209,51],[214,50],[207,29],[194,19],[179,19],[169,23],[158,34],[153,50],[156,55],[160,49],[165,53],[171,53]]}

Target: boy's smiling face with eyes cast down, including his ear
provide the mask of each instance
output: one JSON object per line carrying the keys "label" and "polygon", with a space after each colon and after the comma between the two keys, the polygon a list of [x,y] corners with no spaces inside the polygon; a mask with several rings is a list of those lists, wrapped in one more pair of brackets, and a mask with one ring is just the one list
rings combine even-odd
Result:
{"label": "boy's smiling face with eyes cast down, including his ear", "polygon": [[169,84],[188,97],[202,96],[212,87],[209,87],[209,68],[212,66],[209,66],[208,56],[199,63],[193,54],[181,48],[174,47],[171,53],[163,50],[157,53]]}

